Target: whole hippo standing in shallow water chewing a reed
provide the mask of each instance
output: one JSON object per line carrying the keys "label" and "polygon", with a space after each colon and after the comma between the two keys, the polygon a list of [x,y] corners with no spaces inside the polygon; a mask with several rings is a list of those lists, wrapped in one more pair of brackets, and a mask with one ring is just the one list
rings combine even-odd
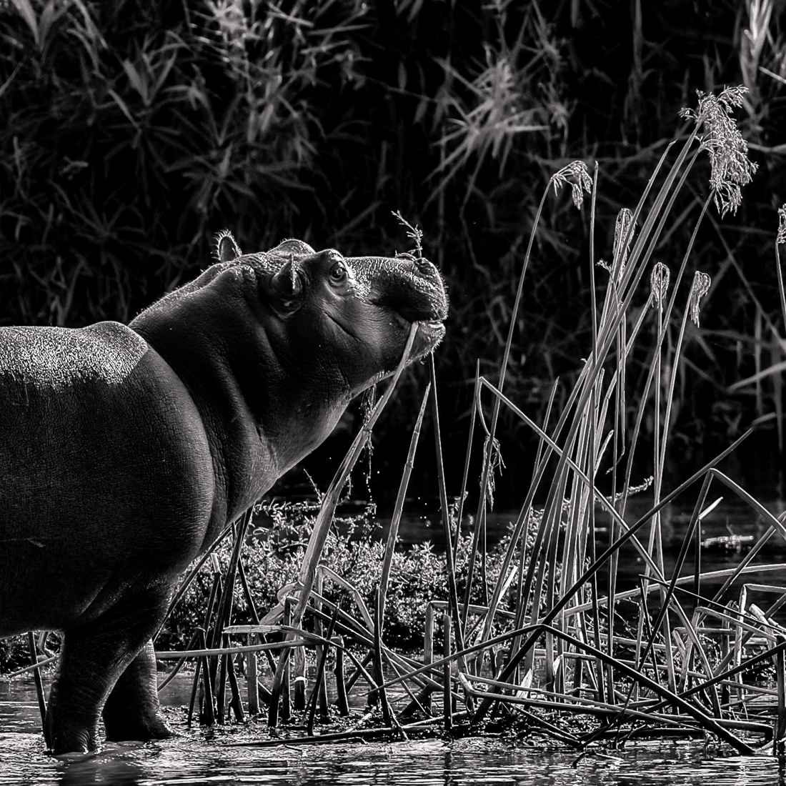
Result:
{"label": "whole hippo standing in shallow water chewing a reed", "polygon": [[0,636],[64,631],[46,742],[171,732],[152,634],[178,574],[389,375],[443,336],[430,263],[285,241],[130,327],[0,329]]}

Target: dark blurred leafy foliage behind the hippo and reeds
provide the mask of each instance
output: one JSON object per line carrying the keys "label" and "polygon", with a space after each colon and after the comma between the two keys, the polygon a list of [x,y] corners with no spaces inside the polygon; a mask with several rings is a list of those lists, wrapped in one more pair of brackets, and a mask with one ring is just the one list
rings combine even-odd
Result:
{"label": "dark blurred leafy foliage behind the hippo and reeds", "polygon": [[[608,258],[617,211],[634,207],[681,133],[679,108],[696,105],[696,90],[744,84],[740,125],[759,171],[736,216],[703,222],[690,263],[713,288],[702,329],[686,337],[673,450],[677,463],[694,461],[774,413],[755,455],[780,465],[770,452],[780,376],[727,388],[782,359],[773,241],[786,200],[784,6],[0,2],[0,324],[128,321],[207,266],[223,227],[248,251],[294,236],[392,254],[409,244],[391,217],[400,210],[450,284],[437,362],[455,473],[476,360],[494,376],[549,176],[597,160],[596,254]],[[708,171],[702,160],[657,261],[679,263]],[[536,420],[555,377],[559,400],[589,351],[588,247],[587,208],[549,197],[505,387]],[[413,369],[410,383],[422,376]],[[414,418],[417,390],[402,388],[377,436],[383,476],[401,466],[395,435]],[[515,487],[531,435],[513,421],[501,434]],[[314,458],[317,472],[341,439]]]}

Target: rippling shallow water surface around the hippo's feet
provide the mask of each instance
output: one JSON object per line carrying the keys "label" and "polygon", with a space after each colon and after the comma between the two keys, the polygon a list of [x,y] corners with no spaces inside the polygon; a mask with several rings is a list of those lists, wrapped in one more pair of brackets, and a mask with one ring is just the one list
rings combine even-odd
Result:
{"label": "rippling shallow water surface around the hippo's feet", "polygon": [[[179,685],[177,684],[179,681]],[[208,786],[208,784],[761,784],[786,786],[776,758],[723,758],[697,743],[637,743],[578,755],[527,740],[472,737],[393,743],[233,747],[266,739],[262,722],[216,731],[187,729],[178,703],[189,678],[176,678],[164,708],[178,736],[148,744],[112,744],[93,756],[46,755],[30,682],[0,683],[0,786]]]}

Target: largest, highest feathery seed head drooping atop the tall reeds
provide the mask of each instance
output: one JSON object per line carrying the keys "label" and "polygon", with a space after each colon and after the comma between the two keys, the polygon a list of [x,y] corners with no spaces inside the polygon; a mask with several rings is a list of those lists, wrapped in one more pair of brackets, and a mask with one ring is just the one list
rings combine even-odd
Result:
{"label": "largest, highest feathery seed head drooping atop the tall reeds", "polygon": [[715,207],[723,217],[728,211],[736,213],[742,204],[741,186],[751,182],[758,169],[748,160],[747,143],[731,117],[733,108],[742,106],[747,87],[727,87],[718,96],[696,92],[699,108],[696,111],[682,108],[680,115],[695,120],[696,127],[704,126],[705,134],[699,137],[700,149],[710,154],[710,186]]}

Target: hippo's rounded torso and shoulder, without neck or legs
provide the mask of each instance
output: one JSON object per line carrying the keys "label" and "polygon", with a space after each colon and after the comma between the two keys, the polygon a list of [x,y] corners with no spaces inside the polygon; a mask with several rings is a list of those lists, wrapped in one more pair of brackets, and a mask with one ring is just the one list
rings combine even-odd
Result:
{"label": "hippo's rounded torso and shoulder, without neck or legs", "polygon": [[0,329],[0,635],[86,622],[171,580],[213,492],[199,413],[134,331]]}

